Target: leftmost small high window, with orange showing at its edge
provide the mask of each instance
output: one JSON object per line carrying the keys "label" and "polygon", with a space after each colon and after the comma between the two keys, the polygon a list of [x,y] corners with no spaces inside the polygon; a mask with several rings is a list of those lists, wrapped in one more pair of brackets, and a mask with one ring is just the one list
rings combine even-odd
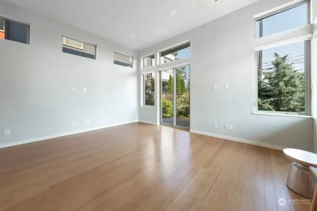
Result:
{"label": "leftmost small high window, with orange showing at its edge", "polygon": [[0,17],[0,39],[29,44],[29,25]]}

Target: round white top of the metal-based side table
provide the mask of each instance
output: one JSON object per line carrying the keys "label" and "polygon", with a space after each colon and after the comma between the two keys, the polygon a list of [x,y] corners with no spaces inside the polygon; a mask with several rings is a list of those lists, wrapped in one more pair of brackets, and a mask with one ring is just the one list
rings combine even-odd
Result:
{"label": "round white top of the metal-based side table", "polygon": [[284,149],[284,155],[304,166],[317,168],[317,154],[297,149]]}

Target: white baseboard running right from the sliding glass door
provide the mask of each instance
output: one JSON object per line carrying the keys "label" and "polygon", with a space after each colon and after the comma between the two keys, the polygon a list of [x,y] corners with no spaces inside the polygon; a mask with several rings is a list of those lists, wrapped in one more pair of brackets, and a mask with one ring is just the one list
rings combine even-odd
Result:
{"label": "white baseboard running right from the sliding glass door", "polygon": [[207,133],[207,132],[198,131],[198,130],[190,130],[190,132],[191,133],[198,133],[198,134],[202,134],[202,135],[206,135],[206,136],[212,136],[212,137],[216,137],[216,138],[220,138],[220,139],[226,139],[226,140],[230,140],[230,141],[241,142],[241,143],[245,143],[245,144],[256,145],[256,146],[260,146],[260,147],[266,147],[266,148],[270,148],[270,149],[274,149],[274,150],[284,150],[287,148],[287,147],[281,147],[281,146],[277,146],[277,145],[266,144],[266,143],[262,143],[262,142],[256,142],[256,141],[250,141],[250,140],[246,140],[246,139],[235,138],[235,137],[231,137],[231,136],[223,136],[223,135],[214,134],[214,133]]}

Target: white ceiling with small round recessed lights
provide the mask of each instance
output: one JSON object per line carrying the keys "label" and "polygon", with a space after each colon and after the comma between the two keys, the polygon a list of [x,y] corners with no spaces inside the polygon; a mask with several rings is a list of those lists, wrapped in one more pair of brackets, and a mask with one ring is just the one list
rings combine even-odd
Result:
{"label": "white ceiling with small round recessed lights", "polygon": [[[134,50],[143,50],[258,0],[7,1]],[[171,10],[177,10],[177,15],[171,16]],[[131,35],[135,38],[131,39]]]}

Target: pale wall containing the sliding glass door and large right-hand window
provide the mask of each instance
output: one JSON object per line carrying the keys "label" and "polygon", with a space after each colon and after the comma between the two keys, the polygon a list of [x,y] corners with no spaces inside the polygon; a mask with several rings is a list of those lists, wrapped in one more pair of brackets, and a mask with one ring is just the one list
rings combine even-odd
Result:
{"label": "pale wall containing the sliding glass door and large right-hand window", "polygon": [[[290,1],[259,1],[139,53],[143,56],[190,40],[191,130],[313,151],[312,118],[252,114],[254,15]],[[214,84],[217,91],[212,90]],[[224,90],[224,84],[230,89]],[[139,120],[158,123],[157,112],[157,102],[152,108],[140,106]],[[218,128],[212,127],[213,122]],[[234,130],[224,130],[224,124]]]}

